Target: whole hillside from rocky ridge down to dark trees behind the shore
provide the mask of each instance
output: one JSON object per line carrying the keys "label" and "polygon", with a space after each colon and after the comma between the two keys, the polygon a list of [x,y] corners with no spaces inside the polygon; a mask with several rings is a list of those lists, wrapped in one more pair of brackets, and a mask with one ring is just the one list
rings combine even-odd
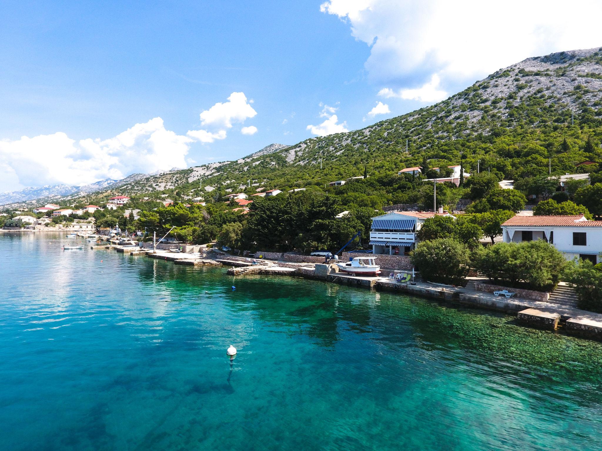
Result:
{"label": "whole hillside from rocky ridge down to dark trees behind the shore", "polygon": [[[438,185],[437,204],[454,209],[461,199],[462,204],[471,203],[465,218],[493,239],[499,224],[523,208],[526,195],[552,197],[557,181],[548,180],[550,171],[588,172],[592,185],[568,183],[566,193],[554,195],[536,214],[602,216],[601,138],[602,49],[560,52],[528,58],[443,102],[365,129],[290,147],[268,146],[235,162],[137,178],[118,189],[63,203],[101,205],[110,195],[127,193],[132,206],[147,210],[138,221],[120,219],[129,228],[163,232],[176,225],[181,238],[201,242],[220,236],[245,248],[333,248],[356,230],[367,233],[370,216],[385,206],[432,208],[433,186],[421,179],[437,176],[429,168],[462,164],[471,177],[460,187]],[[591,164],[580,165],[584,161]],[[423,168],[420,177],[397,175],[413,166]],[[364,175],[368,177],[344,186],[326,186]],[[515,189],[500,189],[503,179],[515,180]],[[223,202],[226,192],[251,195],[272,188],[284,193],[252,197],[248,214],[236,209],[238,204]],[[305,191],[287,194],[294,188]],[[208,204],[204,209],[153,210],[157,203],[142,201],[160,194],[176,203],[201,197]],[[350,213],[344,219],[334,218],[346,210]],[[97,219],[123,218],[121,209],[97,213]],[[475,238],[473,233],[469,241]]]}

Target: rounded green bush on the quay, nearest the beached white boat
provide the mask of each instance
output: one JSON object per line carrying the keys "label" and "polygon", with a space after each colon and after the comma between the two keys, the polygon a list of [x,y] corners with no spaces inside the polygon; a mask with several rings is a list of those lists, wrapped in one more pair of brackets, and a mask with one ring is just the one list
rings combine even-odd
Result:
{"label": "rounded green bush on the quay, nearest the beached white boat", "polygon": [[423,241],[410,255],[424,280],[431,282],[461,285],[470,269],[467,245],[452,238]]}

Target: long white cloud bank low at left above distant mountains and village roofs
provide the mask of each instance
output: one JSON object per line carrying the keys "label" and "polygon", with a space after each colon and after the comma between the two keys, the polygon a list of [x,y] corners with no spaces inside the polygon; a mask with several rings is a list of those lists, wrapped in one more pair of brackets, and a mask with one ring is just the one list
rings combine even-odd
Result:
{"label": "long white cloud bank low at left above distant mountains and village roofs", "polygon": [[85,185],[186,167],[190,137],[177,135],[155,117],[107,140],[75,141],[66,133],[0,141],[0,189],[65,183]]}

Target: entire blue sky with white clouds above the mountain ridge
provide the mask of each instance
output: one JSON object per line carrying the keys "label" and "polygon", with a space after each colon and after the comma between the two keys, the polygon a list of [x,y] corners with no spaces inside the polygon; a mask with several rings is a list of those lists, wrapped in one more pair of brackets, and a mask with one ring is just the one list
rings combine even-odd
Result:
{"label": "entire blue sky with white clouds above the mountain ridge", "polygon": [[0,191],[235,159],[602,45],[583,31],[598,2],[592,19],[516,3],[523,18],[472,1],[2,2]]}

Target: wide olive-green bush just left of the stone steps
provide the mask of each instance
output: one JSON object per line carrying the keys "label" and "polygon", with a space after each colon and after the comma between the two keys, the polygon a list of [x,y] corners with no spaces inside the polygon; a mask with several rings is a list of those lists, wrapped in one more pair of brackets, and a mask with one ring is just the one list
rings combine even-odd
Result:
{"label": "wide olive-green bush just left of the stone steps", "polygon": [[541,240],[479,248],[473,261],[496,284],[539,291],[553,289],[566,265],[562,253]]}

